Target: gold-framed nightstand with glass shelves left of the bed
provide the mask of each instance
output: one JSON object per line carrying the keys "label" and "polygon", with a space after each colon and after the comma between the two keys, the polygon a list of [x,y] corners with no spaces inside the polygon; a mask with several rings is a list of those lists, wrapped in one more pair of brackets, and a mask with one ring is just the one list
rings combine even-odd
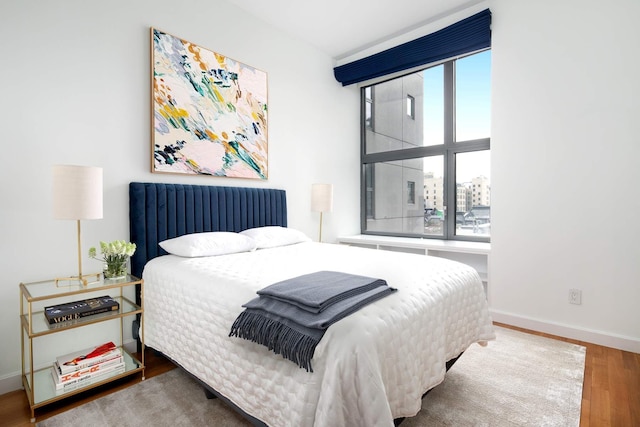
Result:
{"label": "gold-framed nightstand with glass shelves left of the bed", "polygon": [[[124,296],[123,290],[140,287],[141,303],[135,304]],[[43,307],[48,305],[61,304],[79,299],[92,298],[100,295],[107,295],[114,298],[119,303],[119,309],[112,312],[95,314],[76,320],[49,324],[44,316]],[[143,325],[143,281],[135,276],[128,275],[123,279],[100,280],[83,286],[80,283],[61,284],[55,280],[48,280],[34,283],[20,283],[20,323],[22,342],[22,383],[27,393],[29,406],[31,408],[31,422],[35,422],[35,410],[42,406],[81,393],[91,388],[106,384],[119,378],[142,372],[144,380],[144,334],[140,334],[140,359],[123,347],[124,320],[128,317],[139,317],[139,324]],[[112,339],[121,349],[124,358],[124,369],[108,372],[104,376],[98,376],[83,381],[77,386],[67,386],[57,390],[52,376],[53,360],[45,366],[34,367],[34,341],[38,338],[69,331],[75,328],[91,327],[91,325],[102,324],[103,322],[120,322],[120,333],[118,337]],[[69,352],[78,351],[101,343],[84,340],[78,343],[77,348],[70,348]],[[57,355],[56,355],[57,356]]]}

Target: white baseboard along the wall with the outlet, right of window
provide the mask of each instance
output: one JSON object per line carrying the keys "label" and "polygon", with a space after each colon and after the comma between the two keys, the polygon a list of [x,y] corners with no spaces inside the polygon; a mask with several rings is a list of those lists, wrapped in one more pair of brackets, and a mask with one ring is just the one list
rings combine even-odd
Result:
{"label": "white baseboard along the wall with the outlet, right of window", "polygon": [[632,353],[640,353],[640,340],[638,339],[608,334],[602,331],[576,328],[574,326],[555,322],[542,321],[540,319],[520,316],[499,310],[489,311],[495,322],[592,344],[598,344],[605,347],[617,348],[619,350],[630,351]]}

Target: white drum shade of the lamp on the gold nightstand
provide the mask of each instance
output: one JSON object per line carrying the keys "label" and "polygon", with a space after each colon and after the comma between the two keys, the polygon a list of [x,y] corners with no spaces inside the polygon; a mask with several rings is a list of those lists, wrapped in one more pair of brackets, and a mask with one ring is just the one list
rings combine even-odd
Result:
{"label": "white drum shade of the lamp on the gold nightstand", "polygon": [[53,217],[102,218],[102,168],[53,166]]}

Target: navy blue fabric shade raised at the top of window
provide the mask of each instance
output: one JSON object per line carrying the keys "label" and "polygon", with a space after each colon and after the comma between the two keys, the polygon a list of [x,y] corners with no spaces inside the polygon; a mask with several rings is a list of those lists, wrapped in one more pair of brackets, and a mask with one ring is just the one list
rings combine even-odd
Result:
{"label": "navy blue fabric shade raised at the top of window", "polygon": [[435,33],[335,67],[342,86],[491,47],[491,11],[485,9]]}

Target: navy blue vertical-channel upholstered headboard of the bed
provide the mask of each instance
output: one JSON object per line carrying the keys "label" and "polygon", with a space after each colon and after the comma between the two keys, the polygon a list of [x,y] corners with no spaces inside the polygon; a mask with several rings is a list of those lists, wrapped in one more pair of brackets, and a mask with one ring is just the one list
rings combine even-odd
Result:
{"label": "navy blue vertical-channel upholstered headboard of the bed", "polygon": [[205,185],[129,184],[129,232],[136,244],[131,274],[166,252],[158,243],[188,233],[287,226],[284,190]]}

